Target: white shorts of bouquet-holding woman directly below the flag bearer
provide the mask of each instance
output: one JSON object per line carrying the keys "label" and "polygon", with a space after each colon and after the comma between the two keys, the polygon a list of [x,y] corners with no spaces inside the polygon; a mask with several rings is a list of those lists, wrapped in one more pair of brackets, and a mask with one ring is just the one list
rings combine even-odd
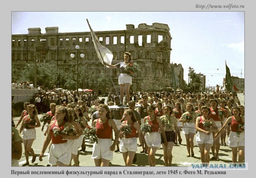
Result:
{"label": "white shorts of bouquet-holding woman directly below the flag bearer", "polygon": [[122,138],[120,141],[120,151],[122,153],[125,153],[127,151],[137,151],[137,138],[133,137],[133,138]]}

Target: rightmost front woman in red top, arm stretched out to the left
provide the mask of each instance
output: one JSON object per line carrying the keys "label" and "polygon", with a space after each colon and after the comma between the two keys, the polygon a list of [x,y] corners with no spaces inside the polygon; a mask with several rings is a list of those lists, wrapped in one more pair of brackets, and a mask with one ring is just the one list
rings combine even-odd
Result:
{"label": "rightmost front woman in red top, arm stretched out to the left", "polygon": [[218,137],[228,123],[231,123],[228,146],[232,149],[232,162],[237,162],[238,153],[238,163],[242,163],[244,162],[244,117],[241,117],[241,110],[238,107],[233,107],[232,113],[233,116],[228,117],[221,129],[215,134],[215,137]]}

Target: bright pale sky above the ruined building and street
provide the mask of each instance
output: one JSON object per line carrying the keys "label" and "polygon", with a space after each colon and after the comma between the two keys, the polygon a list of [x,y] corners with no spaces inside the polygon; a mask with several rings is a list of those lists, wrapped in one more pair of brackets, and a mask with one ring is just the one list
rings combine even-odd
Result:
{"label": "bright pale sky above the ruined building and street", "polygon": [[126,24],[165,23],[170,28],[170,63],[206,76],[206,86],[222,86],[225,61],[232,76],[244,78],[244,12],[12,12],[12,34],[28,28],[58,27],[60,33],[125,30]]}

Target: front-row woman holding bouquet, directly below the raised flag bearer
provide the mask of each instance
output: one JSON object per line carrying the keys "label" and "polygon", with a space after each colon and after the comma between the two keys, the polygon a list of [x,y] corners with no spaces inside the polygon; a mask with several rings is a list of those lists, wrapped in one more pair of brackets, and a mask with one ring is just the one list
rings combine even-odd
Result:
{"label": "front-row woman holding bouquet, directly below the raised flag bearer", "polygon": [[[122,125],[130,126],[131,133],[122,131],[122,125],[120,126],[120,151],[123,154],[125,166],[132,166],[132,161],[137,151],[136,131],[138,132],[142,141],[144,143],[146,143],[146,141],[140,131],[140,125],[138,124],[137,119],[134,117],[133,111],[131,109],[125,110],[123,117],[125,121],[122,122]],[[146,144],[145,148],[148,148]]]}

